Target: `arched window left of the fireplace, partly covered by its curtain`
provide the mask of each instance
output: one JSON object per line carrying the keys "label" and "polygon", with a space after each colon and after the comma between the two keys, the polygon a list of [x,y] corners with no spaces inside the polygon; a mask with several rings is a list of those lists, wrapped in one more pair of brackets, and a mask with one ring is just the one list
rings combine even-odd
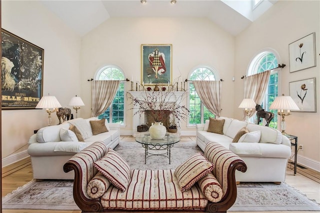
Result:
{"label": "arched window left of the fireplace, partly covered by its curtain", "polygon": [[[97,80],[123,80],[125,79],[121,69],[115,65],[107,65],[97,71]],[[124,82],[119,83],[118,90],[113,98],[111,105],[98,116],[107,118],[111,123],[124,123]]]}

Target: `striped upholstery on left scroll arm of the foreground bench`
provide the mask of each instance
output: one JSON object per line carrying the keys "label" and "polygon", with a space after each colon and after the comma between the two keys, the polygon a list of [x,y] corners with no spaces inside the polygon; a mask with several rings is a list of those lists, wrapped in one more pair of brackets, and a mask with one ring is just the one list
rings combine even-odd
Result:
{"label": "striped upholstery on left scroll arm of the foreground bench", "polygon": [[101,141],[97,141],[82,149],[80,152],[73,155],[69,161],[74,161],[80,165],[82,178],[80,180],[83,194],[89,198],[86,192],[86,186],[92,177],[97,173],[97,169],[93,166],[93,163],[106,153],[107,147]]}

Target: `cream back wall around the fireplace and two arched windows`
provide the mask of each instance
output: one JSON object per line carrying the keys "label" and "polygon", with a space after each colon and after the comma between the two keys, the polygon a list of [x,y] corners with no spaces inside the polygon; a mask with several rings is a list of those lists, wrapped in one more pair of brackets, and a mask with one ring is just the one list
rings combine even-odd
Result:
{"label": "cream back wall around the fireplace and two arched windows", "polygon": [[[153,26],[156,26],[155,28]],[[193,67],[206,64],[215,68],[222,83],[223,116],[232,116],[234,37],[206,18],[110,18],[82,37],[81,98],[91,103],[91,82],[103,64],[116,64],[125,77],[141,77],[141,44],[172,44],[172,78],[185,79]],[[179,86],[181,77],[179,78]],[[135,88],[135,86],[134,86]],[[126,83],[130,89],[130,82]],[[186,104],[186,103],[185,103]],[[129,109],[132,105],[127,105]],[[81,108],[84,117],[91,114],[91,105]],[[126,111],[125,131],[132,129],[132,110]],[[181,126],[184,131],[186,126]]]}

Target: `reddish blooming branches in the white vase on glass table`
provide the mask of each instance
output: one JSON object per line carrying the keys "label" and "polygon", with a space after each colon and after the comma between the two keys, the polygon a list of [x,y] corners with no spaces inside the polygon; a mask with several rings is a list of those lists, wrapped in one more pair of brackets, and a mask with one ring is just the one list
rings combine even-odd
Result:
{"label": "reddish blooming branches in the white vase on glass table", "polygon": [[[145,110],[149,110],[155,122],[172,117],[179,127],[180,121],[185,120],[190,111],[184,105],[179,104],[179,102],[170,101],[170,96],[174,95],[173,90],[172,86],[168,90],[144,91],[145,95],[143,96],[129,97],[133,105],[130,109],[136,110],[133,115],[139,114],[141,116]],[[182,101],[182,98],[179,101]]]}

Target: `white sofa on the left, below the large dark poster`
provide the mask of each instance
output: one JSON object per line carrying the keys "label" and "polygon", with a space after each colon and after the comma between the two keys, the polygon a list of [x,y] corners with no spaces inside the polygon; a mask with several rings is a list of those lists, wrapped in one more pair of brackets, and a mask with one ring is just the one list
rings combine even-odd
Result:
{"label": "white sofa on the left, below the large dark poster", "polygon": [[[119,143],[118,123],[108,123],[105,119],[105,126],[108,131],[92,135],[90,120],[98,120],[98,118],[67,120],[59,125],[40,128],[36,134],[30,137],[27,151],[31,157],[34,179],[73,179],[73,171],[65,173],[63,164],[75,153],[95,141],[103,141],[110,148],[114,148]],[[65,135],[65,133],[70,132],[67,129],[71,124],[77,126],[84,142],[77,141],[77,138],[74,138],[75,134],[72,135],[72,132],[66,134],[67,136]]]}

